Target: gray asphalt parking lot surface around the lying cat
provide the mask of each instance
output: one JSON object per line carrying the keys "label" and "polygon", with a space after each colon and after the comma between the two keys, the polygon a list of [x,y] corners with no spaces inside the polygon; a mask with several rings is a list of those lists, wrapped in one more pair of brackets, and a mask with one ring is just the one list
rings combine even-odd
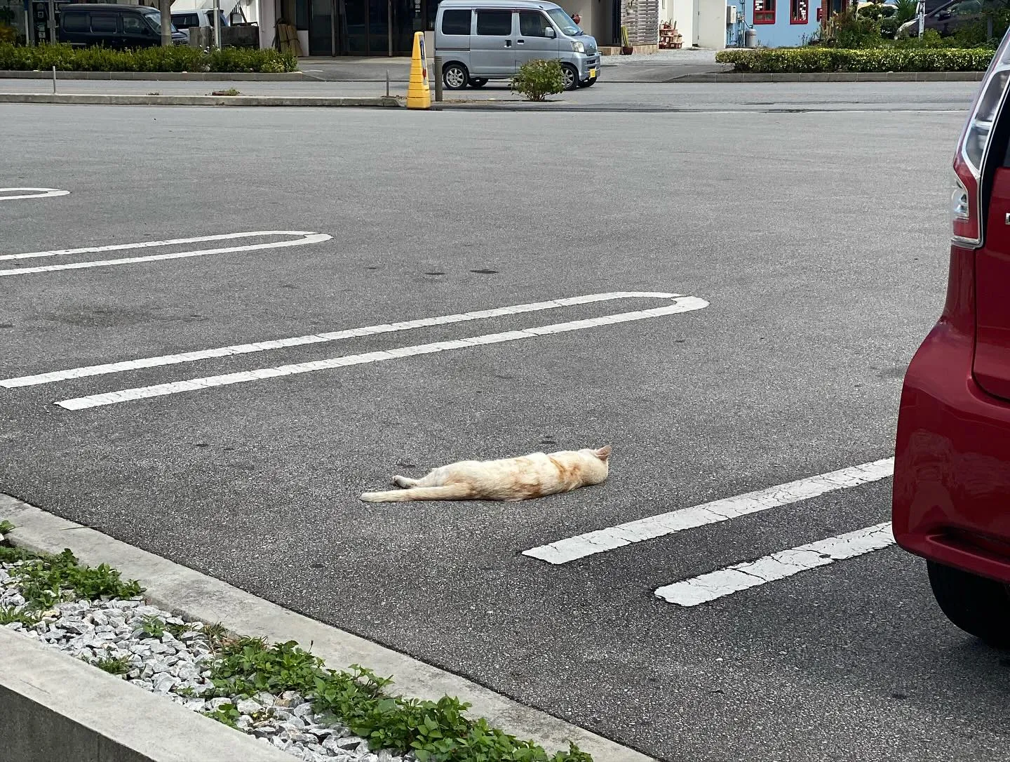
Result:
{"label": "gray asphalt parking lot surface around the lying cat", "polygon": [[[942,301],[963,118],[0,106],[0,185],[71,191],[0,202],[5,254],[332,235],[0,277],[0,378],[563,296],[709,302],[78,411],[54,403],[656,300],[0,388],[0,489],[664,760],[1010,759],[1010,662],[894,547],[696,607],[653,595],[884,521],[888,479],[565,566],[521,555],[888,457]],[[605,442],[610,479],[569,495],[358,500],[396,472]]]}

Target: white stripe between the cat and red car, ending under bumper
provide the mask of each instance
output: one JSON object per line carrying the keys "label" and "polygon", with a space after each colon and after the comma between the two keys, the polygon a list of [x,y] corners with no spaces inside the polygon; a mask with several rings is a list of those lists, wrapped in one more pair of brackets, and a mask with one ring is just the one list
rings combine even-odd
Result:
{"label": "white stripe between the cat and red car, ending under bumper", "polygon": [[761,510],[789,505],[800,500],[809,500],[826,492],[860,484],[879,481],[894,473],[894,458],[850,466],[820,476],[798,479],[777,487],[759,489],[736,497],[706,502],[690,508],[680,508],[668,513],[660,513],[620,523],[605,530],[587,532],[584,535],[559,540],[549,545],[541,545],[523,551],[524,556],[538,558],[550,564],[567,564],[596,553],[611,551],[632,543],[673,535],[684,530],[704,527],[709,523],[726,521],[730,518],[756,513]]}

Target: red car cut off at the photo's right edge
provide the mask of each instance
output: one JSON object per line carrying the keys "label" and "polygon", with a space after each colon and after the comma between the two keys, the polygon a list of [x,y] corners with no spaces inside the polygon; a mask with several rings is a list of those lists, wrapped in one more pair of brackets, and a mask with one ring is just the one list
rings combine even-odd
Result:
{"label": "red car cut off at the photo's right edge", "polygon": [[895,448],[898,544],[926,559],[962,630],[1010,646],[1010,34],[953,160],[946,303],[905,375]]}

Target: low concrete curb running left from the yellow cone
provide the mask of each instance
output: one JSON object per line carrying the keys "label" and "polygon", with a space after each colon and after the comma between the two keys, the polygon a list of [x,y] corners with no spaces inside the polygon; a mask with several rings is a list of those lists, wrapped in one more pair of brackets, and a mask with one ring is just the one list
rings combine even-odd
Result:
{"label": "low concrete curb running left from the yellow cone", "polygon": [[0,93],[0,103],[76,103],[100,106],[314,106],[323,108],[398,108],[397,98],[276,95],[98,95]]}

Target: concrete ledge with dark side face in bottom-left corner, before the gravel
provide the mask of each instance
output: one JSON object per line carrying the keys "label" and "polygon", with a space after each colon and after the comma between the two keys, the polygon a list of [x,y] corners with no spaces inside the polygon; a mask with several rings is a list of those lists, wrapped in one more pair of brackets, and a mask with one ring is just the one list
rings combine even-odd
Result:
{"label": "concrete ledge with dark side face in bottom-left corner, before the gravel", "polygon": [[0,758],[291,762],[291,755],[0,628]]}

